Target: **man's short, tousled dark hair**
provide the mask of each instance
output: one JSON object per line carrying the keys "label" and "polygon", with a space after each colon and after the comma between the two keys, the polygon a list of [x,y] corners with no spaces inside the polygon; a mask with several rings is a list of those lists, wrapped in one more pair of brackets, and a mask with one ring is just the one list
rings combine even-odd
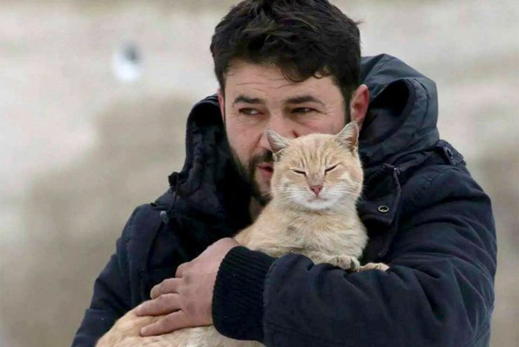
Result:
{"label": "man's short, tousled dark hair", "polygon": [[330,75],[346,105],[359,84],[359,28],[327,0],[241,1],[216,26],[210,49],[222,93],[236,58],[275,64],[292,82]]}

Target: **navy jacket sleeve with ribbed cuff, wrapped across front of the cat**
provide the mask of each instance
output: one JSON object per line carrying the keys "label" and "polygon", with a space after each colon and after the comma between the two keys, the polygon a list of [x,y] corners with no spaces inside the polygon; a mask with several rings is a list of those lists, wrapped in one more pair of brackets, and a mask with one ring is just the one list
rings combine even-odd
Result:
{"label": "navy jacket sleeve with ribbed cuff, wrapped across front of the cat", "polygon": [[423,178],[427,185],[404,202],[387,272],[346,274],[305,256],[275,260],[236,247],[214,287],[216,328],[266,346],[488,346],[490,200],[457,168]]}

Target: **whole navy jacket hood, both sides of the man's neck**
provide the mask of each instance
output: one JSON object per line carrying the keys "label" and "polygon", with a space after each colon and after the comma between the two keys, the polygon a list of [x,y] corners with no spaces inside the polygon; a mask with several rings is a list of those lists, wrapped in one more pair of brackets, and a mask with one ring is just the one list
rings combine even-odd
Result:
{"label": "whole navy jacket hood, both sides of the man's neck", "polygon": [[[414,160],[409,154],[434,146],[439,134],[432,80],[390,55],[362,58],[361,80],[371,94],[359,141],[366,175],[383,163],[407,165]],[[179,197],[175,209],[182,213],[225,220],[237,230],[250,223],[250,190],[232,163],[216,95],[190,112],[185,164],[170,176],[170,185]],[[164,199],[172,199],[171,194],[159,202]]]}

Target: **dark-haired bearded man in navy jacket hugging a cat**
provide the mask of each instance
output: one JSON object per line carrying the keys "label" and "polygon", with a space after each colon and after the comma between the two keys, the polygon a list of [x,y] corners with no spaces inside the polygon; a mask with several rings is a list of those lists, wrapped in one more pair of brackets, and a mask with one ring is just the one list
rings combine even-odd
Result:
{"label": "dark-haired bearded man in navy jacket hugging a cat", "polygon": [[[219,93],[189,115],[171,188],[130,217],[74,346],[150,296],[137,314],[167,316],[144,336],[214,324],[266,346],[488,346],[491,204],[439,141],[434,82],[388,55],[361,60],[356,24],[325,0],[243,1],[211,50]],[[390,269],[346,274],[232,240],[267,202],[264,130],[334,134],[350,120],[366,177],[362,261]]]}

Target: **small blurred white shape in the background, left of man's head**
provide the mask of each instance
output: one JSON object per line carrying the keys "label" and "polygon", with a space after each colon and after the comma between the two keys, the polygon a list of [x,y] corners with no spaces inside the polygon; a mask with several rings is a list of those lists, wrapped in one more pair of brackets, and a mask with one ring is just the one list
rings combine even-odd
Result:
{"label": "small blurred white shape in the background, left of man's head", "polygon": [[139,48],[132,42],[119,47],[112,55],[112,71],[122,82],[135,82],[141,76],[142,58]]}

